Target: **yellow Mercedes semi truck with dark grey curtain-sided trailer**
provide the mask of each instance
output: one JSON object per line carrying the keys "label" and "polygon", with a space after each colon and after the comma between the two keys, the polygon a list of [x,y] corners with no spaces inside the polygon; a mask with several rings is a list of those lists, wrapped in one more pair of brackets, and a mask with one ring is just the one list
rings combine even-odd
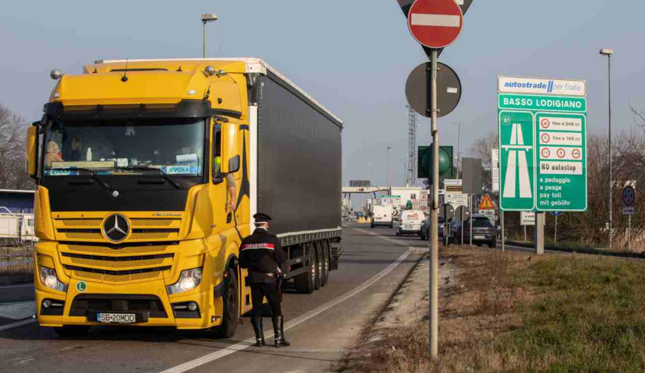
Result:
{"label": "yellow Mercedes semi truck with dark grey curtain-sided trailer", "polygon": [[252,307],[237,257],[258,211],[288,255],[286,287],[330,281],[342,121],[292,81],[255,58],[96,61],[51,76],[26,150],[41,326],[232,337]]}

